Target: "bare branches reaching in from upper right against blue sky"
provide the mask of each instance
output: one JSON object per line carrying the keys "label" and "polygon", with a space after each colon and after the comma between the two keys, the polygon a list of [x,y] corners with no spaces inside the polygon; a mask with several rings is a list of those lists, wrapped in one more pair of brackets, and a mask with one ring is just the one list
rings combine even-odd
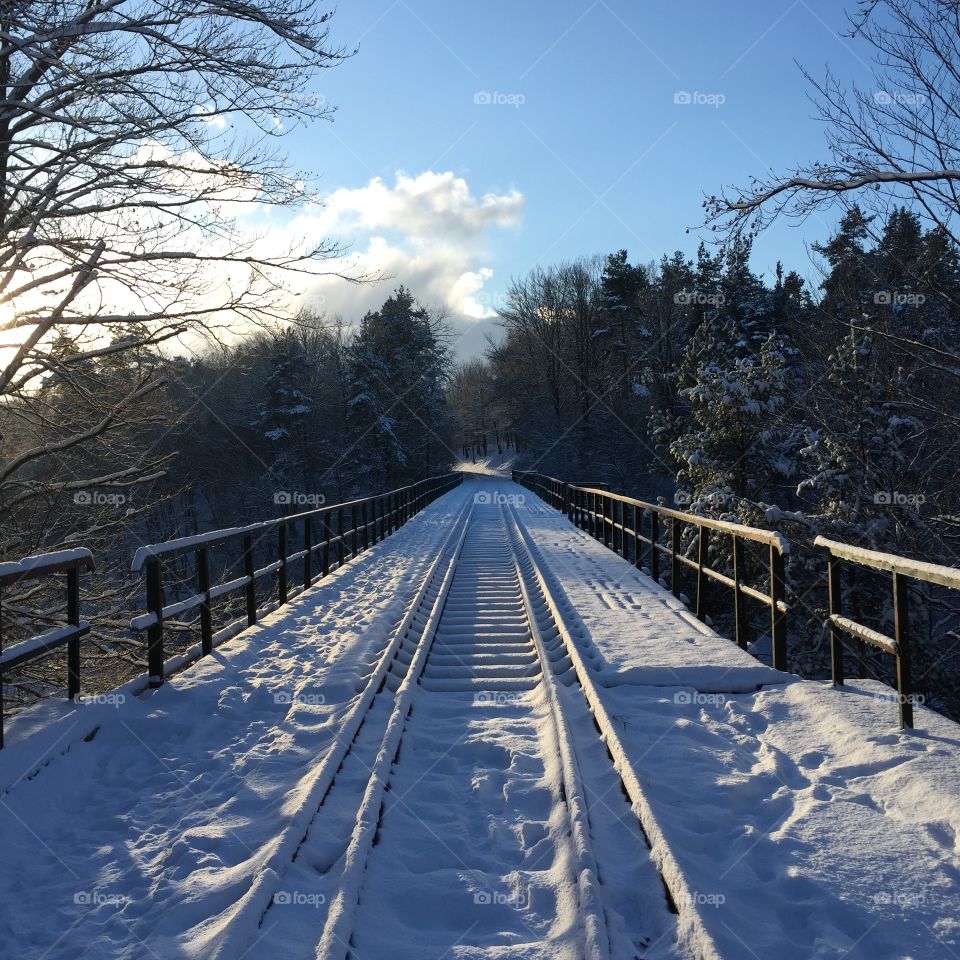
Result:
{"label": "bare branches reaching in from upper right against blue sky", "polygon": [[960,213],[960,3],[860,0],[851,37],[873,52],[870,89],[828,71],[805,75],[825,121],[830,160],[754,178],[706,201],[717,229],[755,233],[781,214],[855,202],[886,215],[912,202],[955,242]]}

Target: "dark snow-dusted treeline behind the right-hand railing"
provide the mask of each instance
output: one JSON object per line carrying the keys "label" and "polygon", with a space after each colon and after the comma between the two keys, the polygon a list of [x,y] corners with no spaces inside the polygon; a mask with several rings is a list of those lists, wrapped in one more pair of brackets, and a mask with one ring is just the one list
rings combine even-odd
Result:
{"label": "dark snow-dusted treeline behind the right-hand railing", "polygon": [[[816,291],[779,265],[765,283],[745,242],[538,268],[471,371],[488,409],[461,417],[515,433],[527,469],[782,531],[793,663],[822,676],[817,534],[960,561],[960,253],[902,209],[852,209],[815,249]],[[886,585],[847,592],[889,630]],[[922,593],[918,689],[956,714],[953,607]]]}

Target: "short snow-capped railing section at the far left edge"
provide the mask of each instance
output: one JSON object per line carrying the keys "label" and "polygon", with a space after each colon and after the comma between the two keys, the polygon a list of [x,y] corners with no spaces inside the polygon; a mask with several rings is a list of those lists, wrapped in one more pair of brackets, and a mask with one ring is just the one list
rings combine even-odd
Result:
{"label": "short snow-capped railing section at the far left edge", "polygon": [[[74,700],[80,693],[80,640],[90,632],[90,624],[80,619],[80,573],[93,569],[93,554],[83,547],[0,563],[0,747],[3,747],[3,681],[6,671],[66,647],[67,696]],[[65,625],[35,634],[4,649],[2,592],[60,573],[66,574]]]}

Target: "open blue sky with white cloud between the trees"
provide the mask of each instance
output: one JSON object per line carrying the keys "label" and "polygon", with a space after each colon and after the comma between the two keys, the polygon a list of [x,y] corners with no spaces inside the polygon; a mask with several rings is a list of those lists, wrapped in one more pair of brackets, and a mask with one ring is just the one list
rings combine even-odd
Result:
{"label": "open blue sky with white cloud between the trees", "polygon": [[[491,329],[478,315],[511,275],[621,247],[634,262],[692,254],[705,193],[823,155],[795,61],[869,83],[866,51],[841,36],[844,6],[341,5],[332,39],[359,51],[312,87],[336,105],[335,121],[292,132],[286,146],[335,198],[303,223],[351,241],[391,278],[372,290],[324,285],[323,304],[351,317],[405,282],[424,302],[450,304],[469,354]],[[697,102],[675,102],[684,92]],[[773,228],[756,269],[769,274],[779,257],[814,277],[806,245],[831,225]]]}

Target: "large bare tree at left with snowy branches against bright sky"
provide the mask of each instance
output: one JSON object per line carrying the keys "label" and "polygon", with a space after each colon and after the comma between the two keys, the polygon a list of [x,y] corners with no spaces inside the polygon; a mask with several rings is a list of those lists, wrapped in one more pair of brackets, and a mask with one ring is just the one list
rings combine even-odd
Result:
{"label": "large bare tree at left with snowy branches against bright sky", "polygon": [[0,4],[0,518],[155,472],[147,451],[68,455],[156,419],[161,344],[282,315],[291,280],[336,252],[270,250],[238,219],[310,198],[275,141],[331,115],[308,93],[346,55],[330,16],[316,0]]}

